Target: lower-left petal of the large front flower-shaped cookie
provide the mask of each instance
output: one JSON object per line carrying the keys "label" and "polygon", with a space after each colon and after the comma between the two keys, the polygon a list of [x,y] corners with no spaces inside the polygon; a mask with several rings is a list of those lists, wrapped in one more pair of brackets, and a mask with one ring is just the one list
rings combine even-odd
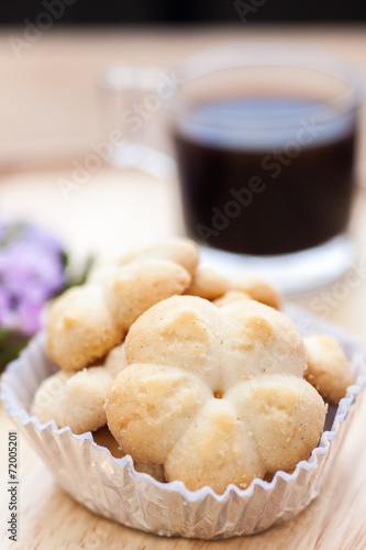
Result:
{"label": "lower-left petal of the large front flower-shaped cookie", "polygon": [[198,377],[180,369],[134,364],[121,371],[109,391],[109,429],[135,461],[163,464],[211,397]]}

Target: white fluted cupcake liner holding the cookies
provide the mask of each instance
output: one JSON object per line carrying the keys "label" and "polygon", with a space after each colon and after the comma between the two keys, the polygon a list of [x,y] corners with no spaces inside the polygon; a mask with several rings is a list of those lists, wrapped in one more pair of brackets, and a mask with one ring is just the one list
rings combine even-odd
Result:
{"label": "white fluted cupcake liner holding the cookies", "polygon": [[131,457],[113,458],[90,432],[76,436],[69,428],[57,429],[54,421],[42,425],[30,416],[35,389],[57,370],[45,354],[42,334],[8,366],[1,398],[62,487],[93,513],[162,536],[220,539],[256,534],[296,516],[319,495],[366,385],[366,350],[354,337],[303,310],[286,312],[303,334],[315,330],[339,340],[355,384],[337,408],[330,407],[326,431],[309,460],[299,462],[292,473],[277,472],[270,482],[256,479],[246,490],[229,485],[217,495],[210,487],[191,492],[179,481],[160,483],[136,472]]}

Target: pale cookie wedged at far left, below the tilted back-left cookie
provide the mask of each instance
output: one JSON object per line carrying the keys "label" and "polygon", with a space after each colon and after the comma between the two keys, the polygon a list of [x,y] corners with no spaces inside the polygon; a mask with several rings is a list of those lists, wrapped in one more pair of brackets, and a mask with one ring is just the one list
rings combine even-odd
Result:
{"label": "pale cookie wedged at far left, below the tilted back-left cookie", "polygon": [[73,433],[85,433],[104,426],[104,402],[113,378],[103,366],[91,366],[78,373],[58,371],[45,378],[31,406],[42,424],[55,420],[57,428],[69,427]]}

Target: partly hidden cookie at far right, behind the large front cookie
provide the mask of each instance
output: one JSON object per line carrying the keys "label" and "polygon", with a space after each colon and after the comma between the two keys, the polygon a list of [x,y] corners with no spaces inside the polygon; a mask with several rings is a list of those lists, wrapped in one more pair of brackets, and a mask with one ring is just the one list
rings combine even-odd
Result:
{"label": "partly hidden cookie at far right, behind the large front cookie", "polygon": [[352,384],[346,356],[337,341],[324,334],[311,334],[303,339],[308,351],[306,380],[320,395],[337,405]]}

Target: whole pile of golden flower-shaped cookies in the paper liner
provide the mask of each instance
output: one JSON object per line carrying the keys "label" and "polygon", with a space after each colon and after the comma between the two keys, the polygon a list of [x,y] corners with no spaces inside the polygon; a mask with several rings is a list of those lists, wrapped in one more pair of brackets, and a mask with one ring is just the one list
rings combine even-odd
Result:
{"label": "whole pile of golden flower-shaped cookies in the paper liner", "polygon": [[257,277],[202,268],[189,240],[131,252],[52,305],[59,371],[32,414],[191,491],[290,472],[318,444],[324,399],[337,403],[352,381],[337,342],[303,339],[279,308]]}

